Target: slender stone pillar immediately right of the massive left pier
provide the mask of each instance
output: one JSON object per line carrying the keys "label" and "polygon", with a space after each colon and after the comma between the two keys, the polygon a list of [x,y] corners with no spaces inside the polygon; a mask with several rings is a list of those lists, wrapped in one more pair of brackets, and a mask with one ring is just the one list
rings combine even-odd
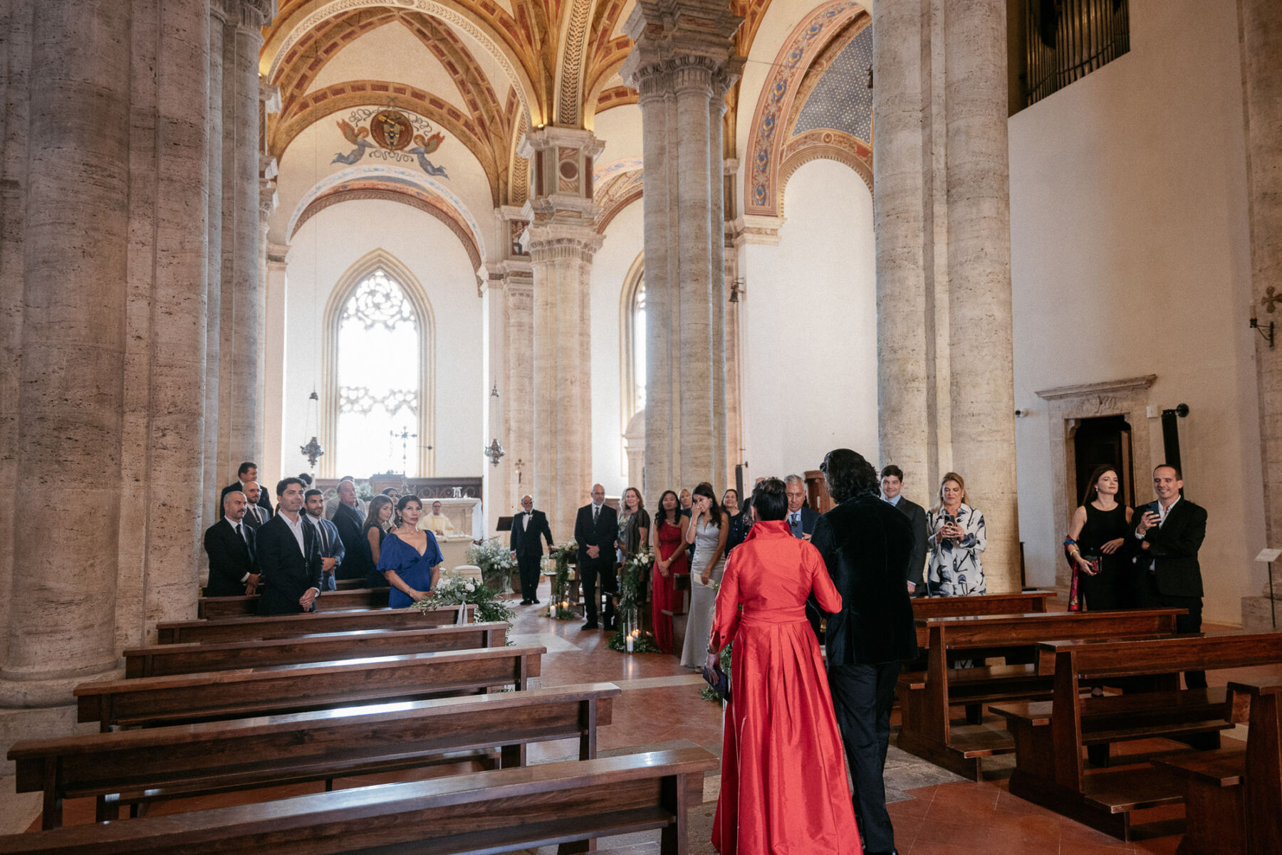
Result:
{"label": "slender stone pillar immediately right of the massive left pier", "polygon": [[[224,0],[223,287],[218,432],[221,483],[263,454],[263,313],[259,219],[260,105],[258,54],[273,0]],[[264,473],[269,474],[269,473]]]}

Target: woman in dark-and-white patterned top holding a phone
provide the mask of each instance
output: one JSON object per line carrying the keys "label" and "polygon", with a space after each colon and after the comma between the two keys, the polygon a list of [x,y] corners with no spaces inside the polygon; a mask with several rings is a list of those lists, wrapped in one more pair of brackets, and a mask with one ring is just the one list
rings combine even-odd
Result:
{"label": "woman in dark-and-white patterned top holding a phone", "polygon": [[988,546],[983,514],[967,504],[965,481],[949,472],[940,481],[940,504],[926,514],[931,561],[926,587],[932,597],[987,594],[979,552]]}

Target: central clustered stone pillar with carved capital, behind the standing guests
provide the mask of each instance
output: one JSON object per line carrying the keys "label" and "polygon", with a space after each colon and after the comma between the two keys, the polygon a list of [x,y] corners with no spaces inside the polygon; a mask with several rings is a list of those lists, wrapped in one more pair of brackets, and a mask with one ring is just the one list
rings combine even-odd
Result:
{"label": "central clustered stone pillar with carved capital, behind the standing guests", "polygon": [[715,0],[640,0],[623,64],[641,92],[645,163],[645,486],[726,485],[720,117],[742,19]]}

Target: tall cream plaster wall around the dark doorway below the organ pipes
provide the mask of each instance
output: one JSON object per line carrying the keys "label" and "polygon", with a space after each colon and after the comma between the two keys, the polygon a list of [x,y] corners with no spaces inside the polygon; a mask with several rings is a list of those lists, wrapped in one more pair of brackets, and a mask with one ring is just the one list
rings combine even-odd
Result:
{"label": "tall cream plaster wall around the dark doorway below the organ pipes", "polygon": [[[1237,623],[1238,597],[1264,582],[1251,564],[1264,533],[1236,6],[1131,0],[1131,45],[1009,126],[1028,581],[1054,581],[1067,528],[1033,392],[1156,374],[1150,404],[1192,409],[1179,431],[1186,496],[1210,514],[1205,617]],[[1160,456],[1159,419],[1132,427]],[[1136,461],[1144,501],[1158,461]]]}

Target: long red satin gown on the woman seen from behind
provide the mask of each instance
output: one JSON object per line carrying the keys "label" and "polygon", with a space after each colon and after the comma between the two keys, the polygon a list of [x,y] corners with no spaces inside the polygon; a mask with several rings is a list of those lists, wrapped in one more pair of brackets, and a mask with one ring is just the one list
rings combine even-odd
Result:
{"label": "long red satin gown on the woman seen from behind", "polygon": [[[841,609],[819,550],[783,520],[759,522],[731,552],[709,646],[735,642],[713,846],[722,855],[860,855],[814,591]],[[742,606],[742,611],[740,611]]]}

